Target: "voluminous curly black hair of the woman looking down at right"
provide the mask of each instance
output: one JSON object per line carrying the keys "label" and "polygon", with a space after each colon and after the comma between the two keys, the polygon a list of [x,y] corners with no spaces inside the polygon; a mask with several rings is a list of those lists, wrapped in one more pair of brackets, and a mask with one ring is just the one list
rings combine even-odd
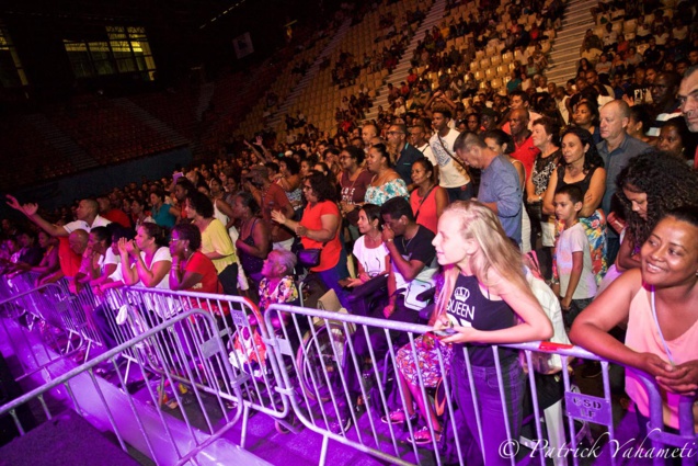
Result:
{"label": "voluminous curly black hair of the woman looking down at right", "polygon": [[[618,198],[626,209],[628,230],[638,249],[668,211],[698,205],[698,173],[666,152],[641,154],[628,162],[616,178]],[[648,196],[646,220],[632,211],[623,189]]]}

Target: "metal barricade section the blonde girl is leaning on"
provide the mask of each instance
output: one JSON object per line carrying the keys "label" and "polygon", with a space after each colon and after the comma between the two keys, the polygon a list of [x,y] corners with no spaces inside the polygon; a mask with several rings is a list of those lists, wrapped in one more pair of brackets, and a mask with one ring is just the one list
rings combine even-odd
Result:
{"label": "metal barricade section the blonde girl is leaning on", "polygon": [[[533,464],[545,465],[546,462],[553,461],[554,464],[569,462],[576,465],[584,453],[597,456],[599,464],[615,463],[611,450],[607,447],[615,440],[607,362],[602,361],[604,397],[579,393],[571,384],[567,370],[558,375],[561,376],[562,394],[553,404],[554,417],[547,416],[548,409],[543,412],[538,397],[533,396],[537,394],[535,354],[554,352],[561,356],[561,367],[564,368],[571,356],[599,360],[582,349],[551,346],[546,343],[507,345],[524,356],[522,363],[524,373],[527,374],[525,397],[531,405],[526,421],[533,424],[533,437],[537,440],[528,443],[519,441],[519,433],[515,432],[519,428],[518,423],[511,425],[508,422],[508,417],[514,412],[502,416],[503,420],[493,419],[491,414],[483,419],[478,409],[473,409],[472,418],[476,419],[471,425],[477,425],[479,439],[464,440],[459,439],[459,433],[464,431],[460,422],[465,416],[455,412],[457,408],[454,402],[454,390],[462,390],[462,387],[454,387],[450,375],[443,376],[448,374],[448,363],[451,361],[447,349],[444,345],[434,346],[434,353],[430,356],[431,366],[421,359],[424,353],[417,351],[424,342],[420,337],[428,332],[430,327],[285,305],[270,307],[265,315],[267,326],[272,318],[283,319],[284,316],[287,316],[289,325],[285,327],[282,337],[270,339],[267,345],[279,361],[283,391],[290,397],[296,416],[308,429],[323,436],[320,464],[324,464],[330,439],[391,464],[467,464],[472,459],[472,448],[476,448],[474,454],[479,454],[478,445],[488,443],[494,422],[504,423],[510,442],[502,442],[496,451],[483,448],[487,464],[513,465],[517,458],[522,459],[527,455]],[[355,331],[352,331],[353,327]],[[291,348],[291,340],[301,341],[298,352]],[[494,402],[506,406],[504,394],[508,390],[510,383],[503,379],[500,360],[500,350],[504,346],[491,348],[496,377],[492,377],[489,383],[494,384],[496,380],[502,397]],[[282,364],[282,361],[289,357],[294,361],[293,366]],[[483,401],[479,399],[481,393],[473,382],[473,372],[478,371],[473,370],[467,351],[464,351],[462,361],[467,366],[464,377],[468,378],[468,383],[465,385],[470,387],[469,396],[474,400],[472,405],[479,406]],[[401,367],[404,370],[405,364],[412,364],[413,372],[410,375],[415,383],[411,390],[405,389],[407,386],[400,382],[400,371]],[[436,387],[427,387],[427,380],[428,385],[433,385],[434,373],[436,376],[440,374],[438,383]],[[459,385],[462,385],[465,378],[458,380]],[[399,389],[401,384],[405,388]],[[359,409],[355,407],[357,399],[353,397],[356,396],[362,399]],[[414,410],[411,399],[417,401]],[[440,420],[432,416],[436,410],[433,406],[435,404],[443,410]],[[567,430],[562,422],[563,405],[567,410]],[[520,409],[518,406],[515,408]],[[401,422],[403,430],[397,427],[398,422],[386,422],[390,421],[391,413],[399,418],[399,414],[394,414],[397,409],[401,409],[403,413],[421,412],[424,430],[419,432],[410,420]],[[593,443],[590,446],[588,442],[581,446],[580,441],[588,437],[588,422],[605,427],[604,447]],[[431,439],[424,442],[424,448],[417,447],[416,442],[405,441],[415,439],[415,434],[417,437],[421,435]],[[582,448],[586,448],[585,452],[581,452]]]}

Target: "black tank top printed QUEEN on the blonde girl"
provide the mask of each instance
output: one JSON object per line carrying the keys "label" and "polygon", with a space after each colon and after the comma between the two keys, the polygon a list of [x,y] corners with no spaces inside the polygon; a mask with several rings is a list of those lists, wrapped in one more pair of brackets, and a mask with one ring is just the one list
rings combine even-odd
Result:
{"label": "black tank top printed QUEEN on the blonde girl", "polygon": [[[448,300],[448,315],[461,327],[477,330],[501,330],[516,325],[516,315],[504,300],[491,300],[480,291],[474,275],[458,275],[454,294]],[[479,367],[493,367],[494,353],[489,343],[467,343],[470,363]],[[500,362],[508,364],[516,360],[518,350],[499,348]],[[462,359],[462,351],[455,351],[455,357]]]}

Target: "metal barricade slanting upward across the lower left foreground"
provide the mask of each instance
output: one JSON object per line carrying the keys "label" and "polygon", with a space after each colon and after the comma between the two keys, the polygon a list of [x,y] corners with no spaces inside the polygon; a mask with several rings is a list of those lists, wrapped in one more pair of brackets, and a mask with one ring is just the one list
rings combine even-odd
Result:
{"label": "metal barricade slanting upward across the lower left foreground", "polygon": [[[184,343],[179,338],[183,334],[197,337]],[[145,390],[137,396],[125,389],[121,373],[123,389],[95,376],[98,366],[116,365],[123,352],[137,355],[145,382]],[[11,416],[16,433],[25,435],[31,432],[18,414],[21,407],[28,406],[35,416],[50,420],[68,405],[99,429],[113,431],[124,452],[130,445],[157,464],[185,464],[204,450],[206,454],[194,459],[196,464],[201,458],[234,462],[239,448],[221,436],[242,417],[242,406],[227,407],[222,394],[202,383],[202,372],[227,380],[228,391],[242,398],[239,373],[228,361],[215,320],[207,311],[190,310],[0,407],[0,417]],[[161,405],[164,390],[175,401],[167,407]],[[58,408],[52,408],[54,397],[61,401]]]}

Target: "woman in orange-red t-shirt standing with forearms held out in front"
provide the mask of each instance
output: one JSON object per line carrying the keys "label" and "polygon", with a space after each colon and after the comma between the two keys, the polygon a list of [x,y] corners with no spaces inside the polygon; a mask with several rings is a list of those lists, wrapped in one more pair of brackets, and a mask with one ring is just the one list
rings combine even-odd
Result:
{"label": "woman in orange-red t-shirt standing with forearms held out in front", "polygon": [[347,307],[346,292],[340,285],[348,276],[348,270],[346,253],[340,240],[342,217],[334,203],[334,183],[322,173],[311,173],[304,182],[304,193],[308,204],[300,221],[286,218],[278,211],[272,212],[272,218],[295,231],[305,249],[320,249],[319,263],[310,271],[320,275],[324,285],[334,289],[342,306]]}

